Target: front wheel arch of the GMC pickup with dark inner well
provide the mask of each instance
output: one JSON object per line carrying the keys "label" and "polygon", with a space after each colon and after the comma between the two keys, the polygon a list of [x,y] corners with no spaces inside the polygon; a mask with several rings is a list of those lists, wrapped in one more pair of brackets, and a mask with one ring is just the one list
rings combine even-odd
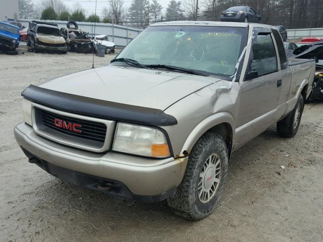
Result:
{"label": "front wheel arch of the GMC pickup with dark inner well", "polygon": [[212,132],[223,137],[230,157],[232,146],[236,138],[234,124],[234,117],[229,112],[216,113],[205,118],[189,134],[183,145],[181,154],[190,154],[198,139],[206,132]]}

